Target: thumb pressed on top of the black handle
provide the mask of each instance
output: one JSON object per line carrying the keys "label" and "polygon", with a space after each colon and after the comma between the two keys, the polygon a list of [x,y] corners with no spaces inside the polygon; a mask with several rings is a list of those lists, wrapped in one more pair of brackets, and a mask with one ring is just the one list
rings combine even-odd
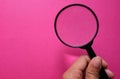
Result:
{"label": "thumb pressed on top of the black handle", "polygon": [[99,72],[102,66],[102,59],[100,57],[94,57],[86,69],[85,79],[99,79]]}

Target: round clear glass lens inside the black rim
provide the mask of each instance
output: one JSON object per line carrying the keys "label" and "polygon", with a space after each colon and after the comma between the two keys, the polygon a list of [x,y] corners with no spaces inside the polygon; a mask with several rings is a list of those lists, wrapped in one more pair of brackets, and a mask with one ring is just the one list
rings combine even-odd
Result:
{"label": "round clear glass lens inside the black rim", "polygon": [[86,7],[71,6],[59,14],[56,30],[64,43],[78,47],[89,43],[94,38],[97,22],[93,13]]}

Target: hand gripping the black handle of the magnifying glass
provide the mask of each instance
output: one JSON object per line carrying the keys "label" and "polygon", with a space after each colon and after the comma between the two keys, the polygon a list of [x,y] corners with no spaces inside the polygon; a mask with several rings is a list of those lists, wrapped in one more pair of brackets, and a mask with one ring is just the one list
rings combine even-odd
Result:
{"label": "hand gripping the black handle of the magnifying glass", "polygon": [[97,56],[90,60],[87,55],[79,57],[63,74],[63,79],[99,79],[102,66],[109,78],[113,79],[114,74],[107,68],[108,64],[101,57]]}

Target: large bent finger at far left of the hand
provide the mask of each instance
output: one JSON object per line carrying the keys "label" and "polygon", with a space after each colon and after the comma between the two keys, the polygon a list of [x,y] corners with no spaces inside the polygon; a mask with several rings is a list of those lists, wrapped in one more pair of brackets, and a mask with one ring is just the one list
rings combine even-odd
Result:
{"label": "large bent finger at far left of the hand", "polygon": [[90,61],[87,55],[80,56],[73,65],[63,74],[63,79],[83,79],[83,71]]}

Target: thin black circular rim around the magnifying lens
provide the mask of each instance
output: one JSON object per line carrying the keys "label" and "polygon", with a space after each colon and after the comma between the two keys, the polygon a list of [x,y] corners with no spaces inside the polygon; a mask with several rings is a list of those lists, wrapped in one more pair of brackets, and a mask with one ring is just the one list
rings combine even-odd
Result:
{"label": "thin black circular rim around the magnifying lens", "polygon": [[[60,38],[60,36],[59,36],[59,34],[58,34],[58,32],[57,32],[57,28],[56,28],[56,27],[57,27],[57,26],[56,26],[56,23],[57,23],[57,19],[58,19],[59,15],[60,15],[64,10],[66,10],[67,8],[70,8],[70,7],[73,7],[73,6],[80,6],[80,7],[84,7],[84,8],[86,8],[87,10],[89,10],[89,11],[93,14],[93,16],[94,16],[94,18],[95,18],[95,20],[96,20],[96,24],[97,24],[97,25],[96,25],[96,26],[97,26],[97,28],[96,28],[96,33],[94,34],[93,38],[92,38],[89,42],[87,42],[86,44],[81,45],[81,46],[72,46],[72,45],[67,44],[66,42],[64,42],[64,41]],[[97,33],[98,33],[98,29],[99,29],[99,21],[98,21],[97,15],[95,14],[95,12],[94,12],[90,7],[88,7],[88,6],[84,5],[84,4],[69,4],[69,5],[65,6],[65,7],[63,7],[63,8],[58,12],[58,14],[56,15],[55,21],[54,21],[54,30],[55,30],[55,33],[56,33],[56,36],[58,37],[58,39],[59,39],[64,45],[69,46],[69,47],[73,47],[73,48],[79,48],[79,47],[82,48],[82,47],[85,47],[85,46],[91,44],[91,43],[93,42],[93,40],[95,39]]]}

